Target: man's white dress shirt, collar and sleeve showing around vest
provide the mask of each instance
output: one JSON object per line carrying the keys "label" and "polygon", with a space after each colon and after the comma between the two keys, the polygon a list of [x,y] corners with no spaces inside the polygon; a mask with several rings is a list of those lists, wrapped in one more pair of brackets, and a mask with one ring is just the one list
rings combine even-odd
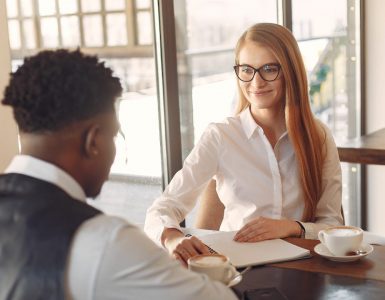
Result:
{"label": "man's white dress shirt, collar and sleeve showing around vest", "polygon": [[[81,186],[66,172],[31,156],[16,156],[6,173],[53,183],[80,201]],[[70,220],[68,220],[70,222]],[[222,283],[172,260],[142,230],[99,215],[76,231],[66,270],[67,299],[237,299]]]}

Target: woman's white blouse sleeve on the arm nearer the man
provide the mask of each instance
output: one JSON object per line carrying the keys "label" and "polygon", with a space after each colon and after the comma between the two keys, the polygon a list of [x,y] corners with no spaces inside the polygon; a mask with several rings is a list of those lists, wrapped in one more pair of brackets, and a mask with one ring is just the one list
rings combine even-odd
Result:
{"label": "woman's white blouse sleeve on the arm nearer the man", "polygon": [[154,241],[160,243],[164,228],[180,229],[179,223],[194,208],[200,193],[217,171],[219,147],[219,130],[210,124],[183,168],[147,210],[144,230]]}

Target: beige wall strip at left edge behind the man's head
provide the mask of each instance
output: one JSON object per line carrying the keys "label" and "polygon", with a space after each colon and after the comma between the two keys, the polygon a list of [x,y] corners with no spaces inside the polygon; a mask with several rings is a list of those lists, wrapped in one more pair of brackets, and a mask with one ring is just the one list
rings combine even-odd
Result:
{"label": "beige wall strip at left edge behind the man's head", "polygon": [[[6,20],[5,0],[0,0],[0,99],[11,70]],[[11,109],[0,105],[0,173],[17,152],[17,127]]]}

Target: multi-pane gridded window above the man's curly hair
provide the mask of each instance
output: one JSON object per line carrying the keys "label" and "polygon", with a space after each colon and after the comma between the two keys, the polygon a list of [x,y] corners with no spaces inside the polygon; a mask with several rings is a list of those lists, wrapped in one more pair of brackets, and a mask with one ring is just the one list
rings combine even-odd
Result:
{"label": "multi-pane gridded window above the man's curly hair", "polygon": [[151,55],[149,1],[7,0],[6,4],[13,58],[58,47],[81,47],[104,57]]}

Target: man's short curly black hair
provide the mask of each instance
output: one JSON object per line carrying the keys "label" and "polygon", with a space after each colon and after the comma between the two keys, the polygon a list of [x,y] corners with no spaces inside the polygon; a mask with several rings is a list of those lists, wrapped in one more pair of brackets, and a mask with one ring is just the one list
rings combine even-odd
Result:
{"label": "man's short curly black hair", "polygon": [[119,79],[97,57],[60,49],[26,58],[2,103],[13,107],[21,131],[36,133],[112,112],[121,93]]}

